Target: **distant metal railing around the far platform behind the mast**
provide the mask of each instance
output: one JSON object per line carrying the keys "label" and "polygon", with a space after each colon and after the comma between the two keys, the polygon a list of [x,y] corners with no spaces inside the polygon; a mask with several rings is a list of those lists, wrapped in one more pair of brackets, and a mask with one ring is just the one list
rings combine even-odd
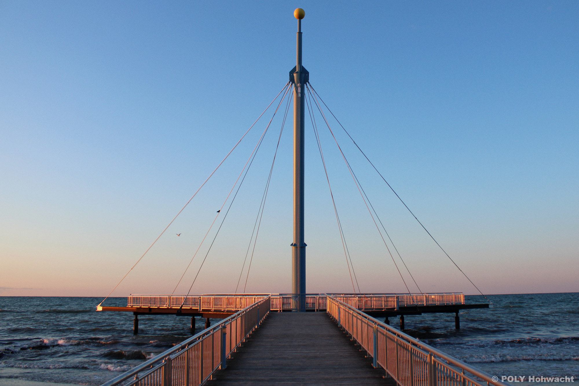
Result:
{"label": "distant metal railing around the far platform behind the mast", "polygon": [[[238,311],[258,300],[271,296],[272,311],[291,310],[291,294],[211,294],[211,295],[130,295],[127,307],[183,308],[211,311]],[[377,293],[377,294],[332,294],[340,301],[358,310],[398,310],[404,306],[440,306],[464,304],[462,293]],[[326,310],[326,295],[311,293],[306,295],[306,310]]]}

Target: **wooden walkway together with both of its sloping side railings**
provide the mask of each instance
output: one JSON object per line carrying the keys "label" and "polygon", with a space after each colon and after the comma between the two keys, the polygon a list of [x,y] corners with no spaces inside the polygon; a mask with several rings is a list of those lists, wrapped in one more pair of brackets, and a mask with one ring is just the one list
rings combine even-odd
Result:
{"label": "wooden walkway together with both of its sloping side railings", "polygon": [[268,295],[103,386],[507,386],[337,296],[325,300],[325,311],[274,313]]}

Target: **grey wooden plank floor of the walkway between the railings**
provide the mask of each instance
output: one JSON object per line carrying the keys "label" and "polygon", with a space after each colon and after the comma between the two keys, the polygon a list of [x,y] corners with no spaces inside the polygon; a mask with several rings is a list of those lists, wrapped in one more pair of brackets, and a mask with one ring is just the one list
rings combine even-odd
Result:
{"label": "grey wooden plank floor of the walkway between the railings", "polygon": [[390,385],[327,313],[270,313],[207,385]]}

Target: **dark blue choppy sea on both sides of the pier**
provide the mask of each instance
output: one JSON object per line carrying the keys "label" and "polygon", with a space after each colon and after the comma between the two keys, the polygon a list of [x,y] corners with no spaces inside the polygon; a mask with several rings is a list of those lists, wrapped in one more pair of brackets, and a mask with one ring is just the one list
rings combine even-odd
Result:
{"label": "dark blue choppy sea on both sides of the pier", "polygon": [[[493,308],[405,317],[405,332],[492,376],[579,382],[579,293],[488,295]],[[100,385],[191,336],[190,318],[97,312],[98,297],[0,297],[0,386]],[[467,303],[483,303],[466,296]],[[107,299],[126,306],[126,297]],[[204,319],[196,318],[196,331]],[[398,319],[390,318],[398,328]],[[218,319],[211,319],[212,324]],[[512,378],[514,379],[514,378]],[[520,379],[520,378],[519,378]],[[508,381],[505,380],[505,381]],[[521,385],[523,383],[514,383]],[[548,382],[534,382],[539,384]]]}

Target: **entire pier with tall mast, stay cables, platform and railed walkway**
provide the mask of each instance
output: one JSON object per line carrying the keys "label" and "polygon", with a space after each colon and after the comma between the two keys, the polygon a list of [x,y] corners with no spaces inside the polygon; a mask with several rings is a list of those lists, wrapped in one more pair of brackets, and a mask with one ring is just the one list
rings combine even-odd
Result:
{"label": "entire pier with tall mast, stay cables, platform and railed walkway", "polygon": [[[402,256],[398,253],[398,249],[394,246],[386,228],[382,225],[378,214],[373,210],[368,196],[364,193],[360,181],[358,181],[353,170],[351,170],[350,164],[346,156],[342,153],[342,149],[338,145],[336,137],[334,137],[334,132],[326,120],[323,109],[324,106],[327,108],[327,105],[321,101],[320,96],[313,89],[309,82],[309,72],[302,65],[302,19],[305,16],[305,12],[303,9],[298,8],[295,10],[294,16],[298,20],[298,31],[296,33],[296,65],[290,71],[289,82],[272,101],[273,104],[278,96],[282,95],[276,112],[280,109],[282,102],[284,100],[286,101],[284,123],[292,98],[294,106],[294,186],[292,192],[294,196],[294,226],[293,238],[290,244],[292,256],[292,293],[131,295],[127,299],[126,307],[103,306],[102,304],[107,300],[107,298],[105,298],[98,304],[97,311],[133,313],[134,334],[138,333],[139,315],[174,315],[177,318],[191,318],[193,336],[162,354],[155,356],[155,358],[135,366],[128,372],[105,383],[104,386],[197,386],[204,384],[347,384],[401,386],[489,386],[492,384],[494,386],[507,386],[500,381],[493,381],[489,374],[481,372],[404,333],[405,317],[410,315],[454,313],[455,328],[459,329],[460,310],[488,308],[490,302],[485,304],[466,304],[463,293],[422,293],[419,285],[412,277],[410,270],[406,267],[404,260],[402,260]],[[270,106],[272,104],[270,104]],[[320,150],[320,156],[324,165],[325,176],[328,180],[328,187],[331,193],[332,204],[334,205],[344,257],[346,258],[347,269],[350,272],[353,293],[309,294],[306,292],[307,244],[304,238],[304,127],[306,122],[306,105],[307,117],[312,122],[318,149]],[[269,108],[269,106],[267,108]],[[329,108],[327,111],[329,115],[329,113],[331,113]],[[384,256],[386,256],[387,251],[389,254],[387,258],[392,259],[408,293],[360,293],[360,286],[357,285],[358,279],[356,278],[356,274],[354,273],[353,277],[351,275],[351,271],[354,271],[353,264],[350,252],[347,249],[342,225],[338,216],[338,209],[336,208],[329,183],[328,173],[325,169],[324,156],[318,137],[317,124],[315,123],[317,112],[320,113],[320,115],[318,115],[318,122],[325,122],[332,137],[336,139],[336,145],[338,145],[338,149],[346,162],[362,200],[364,200],[369,215],[376,225],[376,230],[384,242]],[[333,113],[331,114],[333,115]],[[271,122],[270,120],[270,123]],[[281,138],[281,133],[283,132],[283,124],[280,129],[279,138]],[[269,124],[267,128],[269,128]],[[346,131],[345,128],[344,131]],[[346,134],[350,137],[347,131]],[[263,135],[265,135],[265,131]],[[263,135],[261,138],[263,138]],[[243,137],[241,139],[243,139]],[[350,139],[352,138],[350,137]],[[352,141],[354,140],[352,139]],[[239,142],[237,142],[237,144],[239,144]],[[354,144],[360,152],[362,152],[356,142],[354,142]],[[261,139],[255,149],[258,149],[259,145],[261,145]],[[235,147],[233,149],[235,149]],[[231,151],[233,151],[233,149]],[[255,151],[256,150],[254,150],[254,152]],[[255,153],[251,154],[245,164],[246,166],[251,166],[250,160],[252,160],[254,154]],[[366,157],[364,152],[362,152],[362,155]],[[226,156],[225,159],[228,156]],[[225,161],[225,159],[223,159],[223,161]],[[374,167],[368,157],[366,157],[366,159],[376,172],[378,172],[380,177],[382,177],[383,181],[386,182],[386,179],[384,179],[378,169]],[[271,177],[274,161],[275,156],[273,157],[269,178]],[[221,164],[219,164],[219,166],[220,165]],[[219,168],[219,166],[217,168]],[[249,166],[247,166],[247,168],[249,168]],[[217,168],[215,171],[217,171]],[[243,170],[246,170],[245,166]],[[243,170],[239,178],[243,174]],[[207,178],[206,182],[211,178],[211,175]],[[269,189],[269,178],[267,179],[262,203],[254,225],[254,231],[256,229],[257,232],[259,232],[257,219],[259,219],[259,225],[261,225],[260,212],[263,214],[265,198]],[[243,183],[243,179],[241,179],[239,183],[238,190],[241,183]],[[387,182],[386,184],[394,192],[390,184]],[[199,189],[201,189],[203,185],[201,185]],[[237,181],[233,185],[233,188],[236,186]],[[233,192],[233,188],[231,192]],[[197,192],[199,192],[199,190],[197,190]],[[195,194],[193,197],[195,197]],[[442,252],[448,256],[460,273],[478,290],[478,287],[474,285],[464,271],[460,270],[455,260],[452,260],[448,253],[442,249],[441,245],[438,244],[432,234],[428,232],[426,227],[424,227],[408,206],[406,206],[400,196],[398,196],[396,192],[394,192],[394,194],[400,199],[420,226],[428,233],[428,236],[430,236]],[[191,197],[190,200],[192,200],[193,197]],[[233,204],[234,197],[230,205]],[[215,219],[222,215],[222,209],[225,208],[227,202],[228,198],[226,198],[221,209],[217,211]],[[185,204],[185,207],[187,204]],[[181,211],[183,211],[185,207],[183,207]],[[372,208],[372,210],[370,208]],[[181,211],[179,211],[177,216]],[[229,209],[227,209],[227,211],[229,211]],[[226,214],[227,212],[225,212],[223,221],[225,221]],[[177,218],[177,216],[175,216],[175,218]],[[173,220],[171,223],[173,223]],[[167,225],[159,237],[163,236],[163,233],[171,223]],[[378,223],[382,225],[382,230],[378,226]],[[255,228],[255,226],[257,226],[257,228]],[[207,233],[209,233],[211,227],[212,225],[209,227]],[[219,229],[221,229],[221,226],[219,226]],[[215,233],[215,238],[217,238],[217,233]],[[141,258],[137,260],[137,263],[145,256],[147,251],[155,245],[159,237],[146,249]],[[215,241],[215,238],[213,238],[213,241]],[[254,234],[252,233],[250,246],[253,241],[255,248],[256,239],[257,233],[255,233],[255,241]],[[387,240],[389,240],[390,244],[388,244]],[[201,244],[203,244],[203,241],[201,241]],[[207,255],[212,245],[213,243],[211,242]],[[412,281],[416,285],[419,293],[411,293],[407,281],[404,280],[399,266],[395,262],[389,245],[398,253],[397,258],[400,258],[401,262],[404,263],[404,267],[408,270],[408,274],[412,277]],[[197,251],[199,251],[199,248]],[[248,248],[247,251],[249,250]],[[247,253],[248,252],[246,252],[246,260]],[[193,255],[193,258],[195,258],[195,255]],[[191,261],[193,261],[193,258]],[[203,262],[204,261],[205,260],[203,260]],[[137,263],[135,263],[135,266]],[[202,266],[203,263],[201,263],[201,267]],[[131,268],[131,270],[132,269],[133,268]],[[248,277],[249,267],[247,270]],[[199,274],[199,271],[197,274]],[[129,273],[130,270],[126,275]],[[185,273],[186,270],[183,275],[185,275]],[[241,273],[243,273],[243,267]],[[126,275],[124,277],[126,277]],[[189,287],[189,291],[193,288],[196,278],[197,276]],[[356,280],[358,291],[356,291],[356,287],[354,286],[354,280]],[[175,291],[180,282],[180,280],[177,282]],[[119,284],[117,284],[117,286]],[[115,288],[113,288],[111,293]],[[480,290],[478,291],[486,299],[486,296],[483,295]],[[205,329],[198,333],[195,333],[194,330],[196,317],[206,319]],[[390,326],[389,318],[391,317],[400,317],[399,329]],[[211,326],[209,318],[218,318],[221,320]],[[384,321],[380,321],[378,318],[384,318]]]}

